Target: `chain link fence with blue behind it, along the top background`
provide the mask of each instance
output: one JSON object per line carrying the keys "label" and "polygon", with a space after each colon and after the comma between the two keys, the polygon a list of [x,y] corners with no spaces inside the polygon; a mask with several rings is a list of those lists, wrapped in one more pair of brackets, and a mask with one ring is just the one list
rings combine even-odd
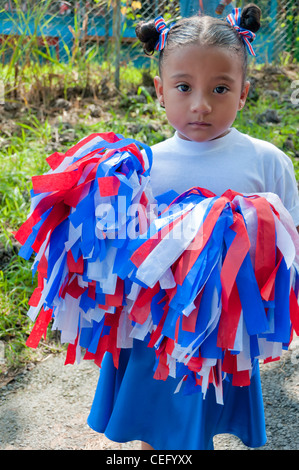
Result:
{"label": "chain link fence with blue behind it, along the top background", "polygon": [[[242,1],[224,0],[221,17]],[[34,36],[38,47],[59,61],[68,60],[74,48],[82,55],[113,60],[116,67],[149,60],[136,47],[135,24],[163,15],[175,21],[180,16],[216,14],[218,0],[0,0],[0,54],[4,63],[14,53],[16,38],[28,42]],[[262,27],[254,44],[257,61],[273,63],[299,59],[298,0],[256,0],[262,9]],[[18,42],[20,45],[20,42]],[[42,52],[41,52],[42,53]]]}

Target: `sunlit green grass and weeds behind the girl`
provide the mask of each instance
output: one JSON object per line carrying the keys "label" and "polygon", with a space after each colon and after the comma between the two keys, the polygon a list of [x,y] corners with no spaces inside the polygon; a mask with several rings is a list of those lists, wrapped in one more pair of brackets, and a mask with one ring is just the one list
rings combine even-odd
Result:
{"label": "sunlit green grass and weeds behind the girl", "polygon": [[[52,140],[55,124],[49,111],[51,104],[49,93],[52,97],[61,97],[63,92],[69,97],[69,90],[77,86],[77,95],[71,96],[74,103],[79,102],[80,108],[74,124],[75,141],[92,132],[113,130],[125,136],[133,135],[137,140],[153,145],[172,132],[164,111],[144,86],[142,70],[136,70],[130,65],[124,67],[121,92],[116,92],[110,87],[109,100],[105,100],[100,93],[96,96],[93,93],[98,90],[97,87],[103,77],[111,84],[109,77],[113,71],[105,64],[102,69],[98,66],[95,69],[94,65],[89,64],[89,72],[92,70],[93,73],[89,75],[88,85],[93,92],[87,98],[89,102],[99,102],[104,110],[102,118],[92,120],[82,94],[87,82],[80,83],[80,79],[76,80],[79,72],[75,68],[71,71],[66,69],[62,71],[60,67],[52,64],[51,68],[49,64],[45,64],[38,74],[34,67],[30,69],[28,66],[23,70],[24,80],[20,90],[22,90],[21,102],[24,111],[11,120],[15,126],[14,132],[1,133],[0,127],[0,248],[8,253],[9,258],[9,261],[3,265],[0,259],[0,341],[6,346],[5,367],[20,366],[32,360],[33,354],[25,347],[32,327],[26,312],[36,281],[31,276],[31,262],[24,261],[16,254],[13,232],[25,221],[29,211],[31,176],[48,170],[45,157],[54,151],[55,143],[53,144]],[[69,74],[63,77],[61,88],[59,77],[62,72]],[[2,70],[2,75],[3,73]],[[283,85],[279,83],[279,86],[283,93],[291,94],[290,81],[286,80]],[[296,152],[299,152],[298,123],[295,113],[290,111],[287,101],[275,101],[264,95],[262,91],[258,90],[259,99],[248,101],[245,109],[238,115],[235,126],[241,132],[271,141],[285,150],[294,161],[299,180],[299,165],[295,159]],[[32,102],[33,98],[36,99],[35,102]],[[12,95],[8,96],[8,99],[13,102]],[[258,124],[258,117],[269,108],[278,112],[280,123]],[[293,149],[286,148],[287,138],[292,139]],[[56,149],[65,151],[72,143],[74,142],[56,144]],[[1,369],[0,364],[0,372],[1,370],[4,370],[4,366]]]}

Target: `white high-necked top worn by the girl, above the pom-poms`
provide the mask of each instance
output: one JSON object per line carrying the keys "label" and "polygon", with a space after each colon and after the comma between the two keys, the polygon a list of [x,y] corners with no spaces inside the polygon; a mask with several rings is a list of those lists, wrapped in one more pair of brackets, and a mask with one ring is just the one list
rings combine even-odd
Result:
{"label": "white high-necked top worn by the girl, above the pom-poms", "polygon": [[227,189],[243,194],[272,192],[299,225],[299,197],[293,163],[274,145],[232,128],[208,142],[183,140],[177,133],[152,146],[151,187],[154,196],[191,187],[217,196]]}

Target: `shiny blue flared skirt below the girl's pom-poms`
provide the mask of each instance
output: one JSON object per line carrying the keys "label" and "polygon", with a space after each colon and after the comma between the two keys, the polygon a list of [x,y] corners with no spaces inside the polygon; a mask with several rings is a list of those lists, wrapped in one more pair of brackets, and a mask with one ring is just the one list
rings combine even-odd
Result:
{"label": "shiny blue flared skirt below the girl's pom-poms", "polygon": [[139,340],[122,350],[119,368],[106,353],[87,423],[115,442],[144,441],[155,450],[212,450],[213,436],[234,434],[248,447],[266,443],[259,365],[251,385],[223,382],[224,405],[211,385],[202,393],[174,394],[178,380],[153,378],[154,350]]}

